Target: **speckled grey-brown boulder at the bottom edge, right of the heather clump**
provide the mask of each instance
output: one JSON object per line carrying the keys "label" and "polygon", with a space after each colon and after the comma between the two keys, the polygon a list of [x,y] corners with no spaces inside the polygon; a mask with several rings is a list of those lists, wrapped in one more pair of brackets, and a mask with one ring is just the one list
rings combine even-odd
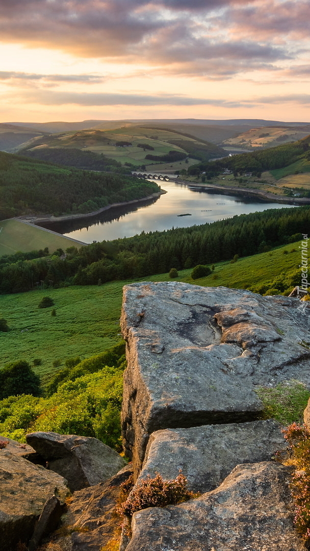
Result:
{"label": "speckled grey-brown boulder at the bottom edge, right of the heather clump", "polygon": [[135,512],[126,551],[304,551],[289,472],[273,462],[239,465],[200,498]]}

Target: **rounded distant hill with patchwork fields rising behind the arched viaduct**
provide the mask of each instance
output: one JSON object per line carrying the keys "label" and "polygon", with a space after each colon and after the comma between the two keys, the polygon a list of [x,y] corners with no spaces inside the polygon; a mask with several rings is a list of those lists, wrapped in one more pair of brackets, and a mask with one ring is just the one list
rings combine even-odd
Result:
{"label": "rounded distant hill with patchwork fields rising behind the arched viaduct", "polygon": [[[73,150],[77,150],[79,155],[74,156]],[[67,151],[68,158],[66,159]],[[150,153],[151,152],[151,153]],[[164,158],[170,152],[183,153],[183,159],[176,158],[168,160],[168,166],[165,170],[173,172],[180,170],[184,166],[189,166],[195,160],[209,160],[218,156],[225,155],[222,148],[217,145],[197,139],[190,134],[183,134],[175,130],[166,128],[139,127],[126,125],[116,129],[86,129],[78,132],[66,132],[61,134],[53,134],[52,136],[42,137],[29,142],[25,148],[21,150],[24,155],[29,155],[32,158],[48,160],[59,164],[69,166],[83,166],[86,168],[97,169],[97,163],[101,159],[102,164],[108,166],[113,163],[120,165],[132,166],[151,166],[154,163],[150,162],[153,159],[149,155],[154,155],[154,161],[158,163],[166,163]],[[94,166],[91,166],[90,157],[87,154],[93,155]],[[96,158],[96,156],[99,158]],[[104,158],[102,158],[104,155]],[[162,159],[161,159],[162,158]],[[109,160],[110,159],[110,160]],[[186,159],[186,163],[182,160]]]}

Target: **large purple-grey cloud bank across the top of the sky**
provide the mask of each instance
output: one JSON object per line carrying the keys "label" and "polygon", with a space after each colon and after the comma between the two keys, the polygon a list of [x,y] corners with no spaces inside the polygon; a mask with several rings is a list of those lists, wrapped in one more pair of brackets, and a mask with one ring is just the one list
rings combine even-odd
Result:
{"label": "large purple-grey cloud bank across the top of the sky", "polygon": [[2,0],[1,7],[3,41],[210,79],[273,69],[269,63],[292,56],[285,34],[308,28],[310,15],[308,0]]}

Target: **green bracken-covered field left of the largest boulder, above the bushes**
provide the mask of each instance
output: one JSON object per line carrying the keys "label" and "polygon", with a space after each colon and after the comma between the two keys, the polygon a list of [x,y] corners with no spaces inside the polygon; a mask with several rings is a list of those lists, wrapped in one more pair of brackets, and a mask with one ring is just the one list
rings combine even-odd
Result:
{"label": "green bracken-covered field left of the largest boulder, above the bushes", "polygon": [[[42,296],[54,300],[56,316],[51,307],[38,308]],[[39,358],[36,372],[42,376],[54,370],[53,360],[102,352],[121,339],[121,304],[121,282],[1,295],[0,317],[10,331],[0,333],[0,365],[21,358],[32,364]]]}

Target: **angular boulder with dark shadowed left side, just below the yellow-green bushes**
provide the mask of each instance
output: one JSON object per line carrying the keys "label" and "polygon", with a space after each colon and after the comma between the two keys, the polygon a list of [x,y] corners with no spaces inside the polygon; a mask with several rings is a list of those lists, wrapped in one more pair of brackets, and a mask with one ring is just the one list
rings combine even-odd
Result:
{"label": "angular boulder with dark shadowed left side, just below the yellow-green bushes", "polygon": [[48,468],[68,480],[71,491],[104,482],[126,461],[96,438],[57,433],[30,433],[26,440],[45,460]]}

